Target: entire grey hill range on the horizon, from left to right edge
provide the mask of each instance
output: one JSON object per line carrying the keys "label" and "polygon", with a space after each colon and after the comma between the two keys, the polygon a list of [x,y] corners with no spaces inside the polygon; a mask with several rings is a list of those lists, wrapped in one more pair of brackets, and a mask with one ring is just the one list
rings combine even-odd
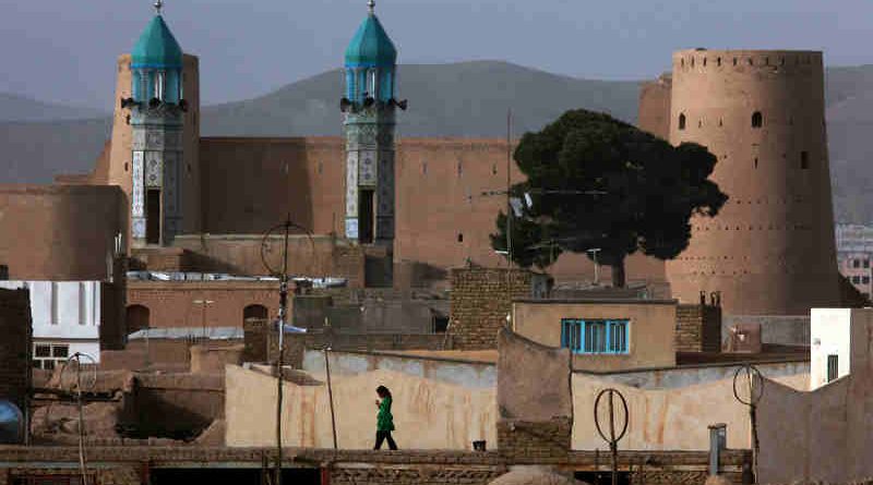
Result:
{"label": "entire grey hill range on the horizon, from left to right edge", "polygon": [[[514,113],[516,135],[538,130],[571,108],[608,111],[636,121],[639,85],[634,82],[579,80],[497,61],[403,65],[398,75],[399,96],[409,100],[409,110],[398,120],[402,136],[502,137],[507,108]],[[342,75],[334,70],[265,96],[204,107],[202,133],[338,135],[342,85]],[[868,187],[873,186],[873,163],[868,162],[873,159],[873,65],[827,69],[825,95],[837,220],[873,222],[873,197],[868,195]],[[13,119],[2,99],[0,183],[47,183],[56,173],[92,169],[109,135],[108,117],[2,122]],[[9,112],[39,111],[26,106],[37,101],[23,102],[24,108]],[[52,119],[65,117],[69,111],[62,108]]]}

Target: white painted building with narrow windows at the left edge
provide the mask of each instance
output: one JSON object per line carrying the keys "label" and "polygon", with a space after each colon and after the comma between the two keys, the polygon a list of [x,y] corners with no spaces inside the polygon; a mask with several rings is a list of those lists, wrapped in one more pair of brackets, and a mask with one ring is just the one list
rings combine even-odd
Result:
{"label": "white painted building with narrow windows at the left edge", "polygon": [[100,281],[0,281],[31,292],[34,367],[53,368],[75,352],[100,360]]}

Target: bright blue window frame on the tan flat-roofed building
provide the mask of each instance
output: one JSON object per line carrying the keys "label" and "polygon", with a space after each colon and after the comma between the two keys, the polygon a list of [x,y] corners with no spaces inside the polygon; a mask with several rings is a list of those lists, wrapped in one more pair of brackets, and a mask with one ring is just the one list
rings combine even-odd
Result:
{"label": "bright blue window frame on the tan flat-roofed building", "polygon": [[630,322],[612,319],[564,318],[561,320],[561,347],[581,354],[630,353]]}

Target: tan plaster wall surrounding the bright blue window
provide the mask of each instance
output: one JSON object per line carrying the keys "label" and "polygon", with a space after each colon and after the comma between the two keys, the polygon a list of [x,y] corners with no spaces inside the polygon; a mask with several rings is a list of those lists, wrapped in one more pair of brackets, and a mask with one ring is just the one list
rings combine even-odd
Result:
{"label": "tan plaster wall surrounding the bright blue window", "polygon": [[627,355],[573,355],[573,368],[618,371],[675,365],[675,302],[515,302],[513,328],[549,347],[561,347],[562,318],[625,318],[630,327]]}

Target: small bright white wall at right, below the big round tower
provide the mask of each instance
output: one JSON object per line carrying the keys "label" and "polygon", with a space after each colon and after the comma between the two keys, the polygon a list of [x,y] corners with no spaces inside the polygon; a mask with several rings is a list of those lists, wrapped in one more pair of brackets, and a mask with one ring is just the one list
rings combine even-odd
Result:
{"label": "small bright white wall at right, below the big round tower", "polygon": [[810,311],[810,390],[827,384],[827,356],[838,355],[837,378],[849,374],[851,308]]}

